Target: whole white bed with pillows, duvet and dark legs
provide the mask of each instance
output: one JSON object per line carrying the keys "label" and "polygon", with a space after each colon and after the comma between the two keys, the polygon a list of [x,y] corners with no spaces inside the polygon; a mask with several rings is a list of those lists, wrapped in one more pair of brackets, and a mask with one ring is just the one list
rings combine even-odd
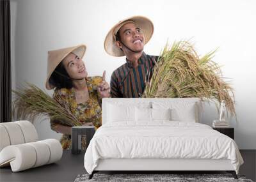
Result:
{"label": "whole white bed with pillows, duvet and dark legs", "polygon": [[198,98],[104,98],[102,126],[84,155],[99,171],[227,171],[243,158],[230,137],[200,123]]}

